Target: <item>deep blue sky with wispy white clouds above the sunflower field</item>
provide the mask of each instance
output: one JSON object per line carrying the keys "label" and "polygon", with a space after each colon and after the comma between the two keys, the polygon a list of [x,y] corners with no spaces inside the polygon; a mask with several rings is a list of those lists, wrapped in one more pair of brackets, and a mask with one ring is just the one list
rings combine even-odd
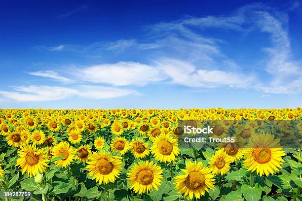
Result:
{"label": "deep blue sky with wispy white clouds above the sunflower field", "polygon": [[301,106],[300,1],[0,2],[0,108]]}

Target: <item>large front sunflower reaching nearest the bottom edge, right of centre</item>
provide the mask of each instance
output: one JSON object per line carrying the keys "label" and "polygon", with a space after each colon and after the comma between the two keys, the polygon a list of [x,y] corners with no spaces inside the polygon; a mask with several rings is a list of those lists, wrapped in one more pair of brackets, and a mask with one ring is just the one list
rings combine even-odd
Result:
{"label": "large front sunflower reaching nearest the bottom edge, right of centre", "polygon": [[182,171],[185,174],[175,177],[175,188],[185,197],[189,194],[191,200],[194,196],[199,199],[200,196],[205,195],[205,191],[209,192],[208,189],[214,189],[214,175],[210,173],[209,168],[203,167],[201,162],[196,164],[196,162],[188,161],[186,169]]}

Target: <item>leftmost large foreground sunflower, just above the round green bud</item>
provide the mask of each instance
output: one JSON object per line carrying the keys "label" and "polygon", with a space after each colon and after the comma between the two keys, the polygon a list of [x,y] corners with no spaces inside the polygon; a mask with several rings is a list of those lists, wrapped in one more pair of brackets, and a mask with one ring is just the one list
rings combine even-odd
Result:
{"label": "leftmost large foreground sunflower, just above the round green bud", "polygon": [[49,160],[46,159],[44,149],[38,149],[35,145],[22,144],[18,151],[19,158],[16,165],[21,167],[22,174],[27,172],[29,177],[36,176],[38,173],[45,172],[46,164]]}

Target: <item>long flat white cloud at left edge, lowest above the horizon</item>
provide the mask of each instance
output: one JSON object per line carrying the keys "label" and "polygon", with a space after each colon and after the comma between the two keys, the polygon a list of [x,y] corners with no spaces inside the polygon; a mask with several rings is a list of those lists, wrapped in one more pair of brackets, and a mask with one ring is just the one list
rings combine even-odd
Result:
{"label": "long flat white cloud at left edge, lowest above the horizon", "polygon": [[135,90],[89,85],[79,85],[76,89],[36,85],[13,87],[13,89],[14,91],[12,92],[0,91],[0,95],[20,102],[64,100],[71,97],[108,99],[127,95],[140,95]]}

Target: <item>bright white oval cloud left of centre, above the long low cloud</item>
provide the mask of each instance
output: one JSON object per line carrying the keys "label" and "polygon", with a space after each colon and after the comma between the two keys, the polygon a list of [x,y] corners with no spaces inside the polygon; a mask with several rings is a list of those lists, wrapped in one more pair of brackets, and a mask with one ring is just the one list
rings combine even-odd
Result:
{"label": "bright white oval cloud left of centre, above the long low cloud", "polygon": [[119,62],[78,69],[81,80],[113,86],[143,86],[164,79],[157,68],[134,62]]}

